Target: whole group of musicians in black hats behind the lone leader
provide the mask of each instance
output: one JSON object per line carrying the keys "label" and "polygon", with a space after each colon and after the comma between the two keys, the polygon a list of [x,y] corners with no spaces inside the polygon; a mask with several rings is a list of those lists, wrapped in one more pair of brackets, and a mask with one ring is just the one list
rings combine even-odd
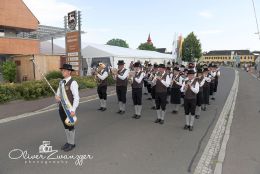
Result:
{"label": "whole group of musicians in black hats behind the lone leader", "polygon": [[[156,110],[155,123],[164,124],[167,104],[173,108],[172,114],[177,114],[184,107],[184,129],[192,131],[195,119],[199,119],[201,111],[206,111],[209,100],[215,100],[220,71],[217,65],[204,64],[195,67],[194,63],[186,66],[178,63],[150,64],[145,67],[140,62],[133,64],[133,71],[125,68],[123,60],[118,61],[118,69],[111,73],[116,80],[116,94],[118,98],[118,114],[124,114],[126,109],[126,93],[128,84],[132,87],[134,114],[132,118],[140,119],[142,112],[143,92],[152,101],[151,109]],[[100,63],[96,70],[98,81],[98,96],[101,111],[106,110],[107,77],[105,65]],[[144,89],[144,91],[143,91]],[[168,100],[169,98],[169,100]],[[183,102],[182,102],[183,101]]]}

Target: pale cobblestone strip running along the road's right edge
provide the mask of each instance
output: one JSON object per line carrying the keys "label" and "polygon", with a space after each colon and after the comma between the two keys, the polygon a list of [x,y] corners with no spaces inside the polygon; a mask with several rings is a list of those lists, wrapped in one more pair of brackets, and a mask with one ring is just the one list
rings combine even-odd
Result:
{"label": "pale cobblestone strip running along the road's right edge", "polygon": [[[229,114],[231,113],[232,104],[236,101],[236,94],[239,83],[239,75],[238,71],[235,70],[235,80],[233,82],[233,86],[230,90],[229,96],[225,102],[222,112],[220,113],[219,119],[215,125],[215,128],[212,131],[210,139],[206,145],[206,148],[203,151],[203,154],[199,160],[197,167],[195,168],[194,174],[212,174],[214,172],[216,156],[219,155],[219,159],[221,164],[223,162],[223,157],[225,156],[225,144],[221,145],[221,141],[223,143],[227,143],[228,137],[225,136],[223,140],[225,130],[227,130],[227,135],[229,134],[229,130],[227,127],[227,119],[229,118]],[[232,117],[233,118],[233,117]],[[230,118],[231,119],[231,118]],[[231,123],[229,122],[228,124]],[[221,151],[220,151],[221,149]],[[221,156],[222,155],[222,156]],[[218,166],[219,167],[219,166]],[[217,174],[217,173],[216,173]]]}

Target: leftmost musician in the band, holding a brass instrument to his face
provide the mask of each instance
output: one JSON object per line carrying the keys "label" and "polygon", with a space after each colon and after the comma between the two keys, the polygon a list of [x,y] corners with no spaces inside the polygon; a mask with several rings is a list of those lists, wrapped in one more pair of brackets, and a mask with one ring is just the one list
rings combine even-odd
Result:
{"label": "leftmost musician in the band, holding a brass instrument to his face", "polygon": [[108,72],[105,70],[106,65],[98,64],[99,72],[95,72],[98,78],[97,93],[100,100],[100,108],[98,110],[105,111],[107,109],[107,77]]}

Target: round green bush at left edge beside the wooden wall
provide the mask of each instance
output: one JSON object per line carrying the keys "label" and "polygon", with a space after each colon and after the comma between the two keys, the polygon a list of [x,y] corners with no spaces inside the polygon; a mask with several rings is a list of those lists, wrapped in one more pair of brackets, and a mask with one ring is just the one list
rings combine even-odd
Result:
{"label": "round green bush at left edge beside the wooden wall", "polygon": [[6,61],[2,65],[3,78],[10,83],[16,78],[16,64],[12,61]]}

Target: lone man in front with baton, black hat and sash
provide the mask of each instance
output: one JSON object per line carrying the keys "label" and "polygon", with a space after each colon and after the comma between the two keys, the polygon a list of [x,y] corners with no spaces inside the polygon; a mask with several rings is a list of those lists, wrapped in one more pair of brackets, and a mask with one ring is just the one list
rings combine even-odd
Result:
{"label": "lone man in front with baton, black hat and sash", "polygon": [[[55,98],[56,98],[56,101],[58,103],[60,103],[61,95],[62,95],[61,91],[64,91],[60,88],[63,88],[63,89],[65,88],[67,98],[68,98],[70,104],[72,105],[72,109],[70,110],[70,115],[73,117],[73,116],[75,116],[76,109],[79,105],[78,83],[75,80],[73,80],[73,78],[71,77],[71,72],[74,71],[74,69],[72,69],[72,65],[63,64],[63,67],[61,67],[60,69],[61,69],[62,76],[64,77],[64,79],[62,80],[62,84],[59,86],[59,88],[57,90],[57,94],[56,94]],[[59,104],[59,114],[60,114],[60,118],[63,123],[63,126],[65,128],[65,133],[66,133],[66,137],[67,137],[67,142],[61,149],[64,150],[65,152],[68,152],[75,148],[75,128],[74,128],[74,126],[68,126],[65,124],[65,120],[66,120],[67,116],[64,112],[64,109],[63,109],[61,103]]]}

